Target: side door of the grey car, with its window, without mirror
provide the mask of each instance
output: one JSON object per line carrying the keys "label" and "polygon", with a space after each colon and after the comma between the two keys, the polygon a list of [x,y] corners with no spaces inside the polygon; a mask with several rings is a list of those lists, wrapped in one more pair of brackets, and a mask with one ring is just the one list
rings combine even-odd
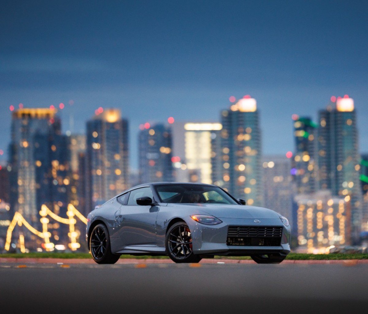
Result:
{"label": "side door of the grey car, with its window, without mirror", "polygon": [[138,205],[137,198],[144,196],[153,198],[149,186],[132,190],[127,203],[120,207],[117,219],[118,233],[124,247],[156,246],[156,218],[159,207]]}

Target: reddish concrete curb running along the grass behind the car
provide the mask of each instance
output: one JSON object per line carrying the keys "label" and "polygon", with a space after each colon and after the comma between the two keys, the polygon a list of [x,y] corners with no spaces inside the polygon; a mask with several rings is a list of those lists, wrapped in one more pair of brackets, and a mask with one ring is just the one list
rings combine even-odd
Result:
{"label": "reddish concrete curb running along the grass behind the car", "polygon": [[[17,263],[17,264],[96,264],[93,259],[84,258],[0,258],[0,263]],[[121,258],[116,264],[175,264],[171,259],[136,259]],[[249,259],[211,259],[204,258],[199,264],[256,264]],[[342,264],[353,266],[358,264],[368,264],[368,259],[329,259],[329,260],[294,260],[286,259],[280,265],[284,264]],[[96,264],[97,265],[97,264]]]}

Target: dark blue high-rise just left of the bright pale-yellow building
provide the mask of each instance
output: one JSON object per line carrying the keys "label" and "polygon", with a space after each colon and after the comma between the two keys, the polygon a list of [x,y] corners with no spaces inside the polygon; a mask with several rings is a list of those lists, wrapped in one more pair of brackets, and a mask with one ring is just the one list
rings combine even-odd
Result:
{"label": "dark blue high-rise just left of the bright pale-yellow building", "polygon": [[174,181],[171,127],[146,122],[140,129],[139,182]]}

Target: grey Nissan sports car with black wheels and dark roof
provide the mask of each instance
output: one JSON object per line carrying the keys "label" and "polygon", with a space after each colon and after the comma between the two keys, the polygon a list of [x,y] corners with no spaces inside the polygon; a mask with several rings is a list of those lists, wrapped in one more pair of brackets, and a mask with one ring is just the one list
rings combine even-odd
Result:
{"label": "grey Nissan sports car with black wheels and dark roof", "polygon": [[290,253],[285,217],[210,184],[138,185],[90,212],[87,221],[88,248],[98,264],[113,264],[121,254],[168,255],[176,263],[250,256],[266,264]]}

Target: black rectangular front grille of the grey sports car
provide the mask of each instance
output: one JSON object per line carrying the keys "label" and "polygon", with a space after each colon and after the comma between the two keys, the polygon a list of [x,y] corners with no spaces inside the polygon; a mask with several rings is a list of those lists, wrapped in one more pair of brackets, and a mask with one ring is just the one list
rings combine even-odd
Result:
{"label": "black rectangular front grille of the grey sports car", "polygon": [[227,245],[279,246],[282,227],[272,226],[229,226]]}

